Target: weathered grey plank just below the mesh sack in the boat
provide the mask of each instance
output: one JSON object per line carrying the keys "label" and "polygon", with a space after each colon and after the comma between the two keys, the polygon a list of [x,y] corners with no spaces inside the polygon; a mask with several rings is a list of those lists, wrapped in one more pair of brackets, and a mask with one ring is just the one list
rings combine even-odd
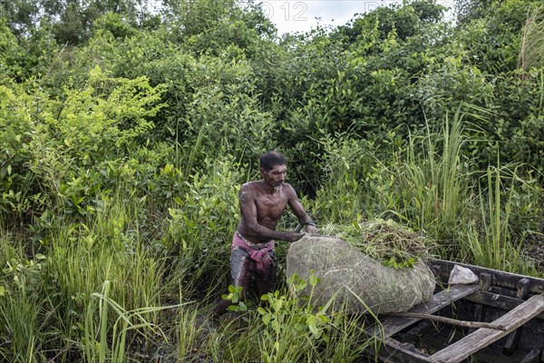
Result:
{"label": "weathered grey plank just below the mesh sack in the boat", "polygon": [[[449,289],[443,289],[432,295],[429,301],[418,304],[408,311],[419,314],[432,314],[478,289],[480,289],[479,285],[452,285]],[[417,318],[389,317],[382,321],[381,326],[372,327],[367,331],[372,335],[389,338],[402,329],[413,325],[418,320]]]}

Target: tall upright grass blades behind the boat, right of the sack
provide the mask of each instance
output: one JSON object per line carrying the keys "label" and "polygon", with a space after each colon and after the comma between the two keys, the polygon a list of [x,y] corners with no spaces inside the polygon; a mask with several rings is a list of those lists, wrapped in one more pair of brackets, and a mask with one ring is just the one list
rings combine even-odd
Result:
{"label": "tall upright grass blades behind the boat, right of the sack", "polygon": [[[527,229],[535,219],[528,215],[528,221],[520,221],[535,209],[530,197],[520,197],[516,189],[520,185],[523,193],[533,193],[533,181],[520,177],[516,168],[489,167],[481,182],[482,173],[471,169],[476,163],[463,155],[469,141],[463,136],[463,118],[458,112],[452,122],[445,119],[442,133],[428,131],[423,148],[410,139],[407,162],[393,164],[399,181],[395,190],[402,195],[397,215],[438,240],[442,258],[529,272],[520,261],[525,231],[512,231]],[[422,149],[423,156],[416,154]]]}

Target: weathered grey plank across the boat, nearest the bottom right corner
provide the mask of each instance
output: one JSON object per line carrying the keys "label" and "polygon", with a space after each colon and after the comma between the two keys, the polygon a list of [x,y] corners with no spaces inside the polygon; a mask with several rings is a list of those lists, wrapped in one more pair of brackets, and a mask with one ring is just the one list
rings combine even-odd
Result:
{"label": "weathered grey plank across the boat, nearest the bottom right corner", "polygon": [[481,328],[461,338],[447,348],[433,354],[430,358],[441,363],[458,363],[470,357],[481,348],[485,348],[492,342],[506,336],[510,331],[520,328],[530,319],[544,310],[544,295],[536,295],[525,301],[517,308],[493,321],[503,325],[506,331]]}

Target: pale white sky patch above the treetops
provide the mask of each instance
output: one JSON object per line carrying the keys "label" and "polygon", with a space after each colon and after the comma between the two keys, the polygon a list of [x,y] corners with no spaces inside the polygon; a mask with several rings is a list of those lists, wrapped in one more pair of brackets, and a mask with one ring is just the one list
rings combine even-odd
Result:
{"label": "pale white sky patch above the treetops", "polygon": [[[345,25],[355,13],[364,14],[378,6],[388,6],[402,1],[392,0],[264,0],[262,9],[276,24],[279,35],[306,32],[316,25]],[[453,7],[453,0],[440,0],[439,4]],[[446,17],[451,17],[451,12]]]}

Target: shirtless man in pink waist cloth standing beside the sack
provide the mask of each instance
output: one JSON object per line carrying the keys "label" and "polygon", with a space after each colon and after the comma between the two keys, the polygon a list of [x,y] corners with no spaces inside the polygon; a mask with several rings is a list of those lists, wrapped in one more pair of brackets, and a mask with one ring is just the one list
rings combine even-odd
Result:
{"label": "shirtless man in pink waist cloth standing beside the sack", "polygon": [[[240,300],[245,299],[249,282],[257,280],[260,296],[272,291],[277,280],[277,259],[274,240],[299,240],[298,231],[276,231],[287,205],[300,225],[308,233],[316,233],[316,223],[306,214],[296,192],[286,181],[287,160],[279,152],[265,152],[259,158],[262,180],[247,182],[238,194],[241,220],[234,233],[230,252],[230,275],[234,286],[241,287]],[[221,300],[215,309],[217,315],[224,314],[230,300]]]}

